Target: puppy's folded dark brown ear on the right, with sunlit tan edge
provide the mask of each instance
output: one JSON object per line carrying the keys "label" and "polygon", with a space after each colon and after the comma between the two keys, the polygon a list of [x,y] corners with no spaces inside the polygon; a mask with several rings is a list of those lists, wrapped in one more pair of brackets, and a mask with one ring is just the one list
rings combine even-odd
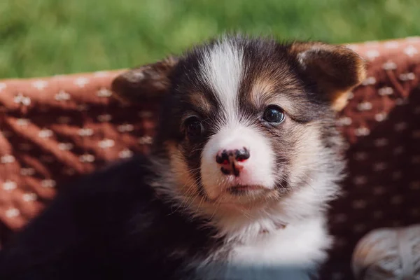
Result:
{"label": "puppy's folded dark brown ear on the right, with sunlit tan edge", "polygon": [[290,52],[297,58],[298,69],[332,109],[340,111],[346,106],[349,91],[366,76],[365,61],[356,52],[340,45],[325,43],[293,43]]}

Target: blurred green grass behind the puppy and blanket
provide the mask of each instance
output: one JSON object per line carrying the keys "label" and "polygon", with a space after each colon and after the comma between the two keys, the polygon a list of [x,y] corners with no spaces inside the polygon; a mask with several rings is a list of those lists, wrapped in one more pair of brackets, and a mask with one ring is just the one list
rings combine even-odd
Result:
{"label": "blurred green grass behind the puppy and blanket", "polygon": [[0,78],[118,69],[223,31],[331,43],[420,34],[419,0],[3,0]]}

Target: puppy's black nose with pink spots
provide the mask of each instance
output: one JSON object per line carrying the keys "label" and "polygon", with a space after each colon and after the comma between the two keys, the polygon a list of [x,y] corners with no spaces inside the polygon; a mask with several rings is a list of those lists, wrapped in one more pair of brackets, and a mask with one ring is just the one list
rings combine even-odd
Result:
{"label": "puppy's black nose with pink spots", "polygon": [[239,176],[241,169],[244,168],[242,162],[248,160],[250,156],[249,150],[245,147],[232,150],[222,149],[216,155],[216,162],[221,165],[223,174]]}

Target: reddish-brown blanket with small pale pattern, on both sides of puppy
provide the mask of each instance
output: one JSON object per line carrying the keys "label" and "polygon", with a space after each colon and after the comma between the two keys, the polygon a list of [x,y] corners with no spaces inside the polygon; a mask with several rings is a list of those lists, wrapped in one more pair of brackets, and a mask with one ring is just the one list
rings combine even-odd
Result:
{"label": "reddish-brown blanket with small pale pattern, on both sides of puppy", "polygon": [[[369,62],[337,125],[349,176],[332,204],[336,237],[326,279],[352,279],[351,253],[366,232],[420,223],[420,37],[348,45]],[[120,71],[0,80],[0,244],[63,181],[148,153],[157,104],[121,104]]]}

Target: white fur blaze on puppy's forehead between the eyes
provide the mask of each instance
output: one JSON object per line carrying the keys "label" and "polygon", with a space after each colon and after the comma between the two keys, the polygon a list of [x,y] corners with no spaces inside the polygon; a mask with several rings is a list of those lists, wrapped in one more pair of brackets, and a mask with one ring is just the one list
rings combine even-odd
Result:
{"label": "white fur blaze on puppy's forehead between the eyes", "polygon": [[237,95],[243,76],[243,50],[223,38],[204,54],[201,76],[214,91],[227,120],[237,118]]}

